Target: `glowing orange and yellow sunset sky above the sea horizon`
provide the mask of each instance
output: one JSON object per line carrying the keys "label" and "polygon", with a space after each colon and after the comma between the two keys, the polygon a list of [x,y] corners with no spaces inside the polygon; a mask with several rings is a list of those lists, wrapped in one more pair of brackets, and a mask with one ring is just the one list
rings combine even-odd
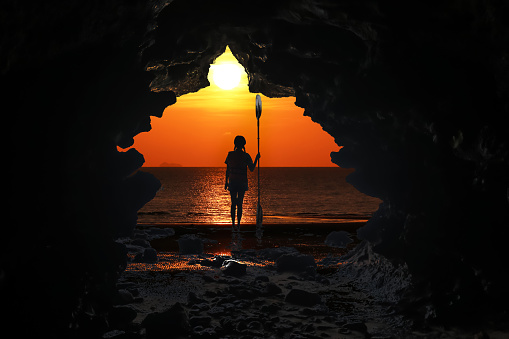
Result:
{"label": "glowing orange and yellow sunset sky above the sea horizon", "polygon": [[[214,65],[238,64],[227,48]],[[213,65],[213,67],[214,67]],[[239,67],[240,64],[238,64]],[[223,90],[213,81],[196,93],[177,98],[162,118],[151,117],[152,130],[138,134],[133,147],[145,157],[145,167],[163,162],[184,167],[222,167],[233,138],[243,135],[246,151],[257,152],[255,98],[248,90],[247,74],[242,69],[240,84]],[[339,146],[320,125],[302,114],[295,98],[262,98],[260,153],[262,167],[321,167],[336,165],[330,152]]]}

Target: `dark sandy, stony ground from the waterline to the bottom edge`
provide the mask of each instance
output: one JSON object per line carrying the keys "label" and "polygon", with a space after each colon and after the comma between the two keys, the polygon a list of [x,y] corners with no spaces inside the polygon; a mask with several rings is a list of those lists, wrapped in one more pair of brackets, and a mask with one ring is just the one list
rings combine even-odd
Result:
{"label": "dark sandy, stony ground from the waterline to the bottom edge", "polygon": [[[507,338],[496,330],[416,330],[390,302],[338,274],[361,225],[264,225],[261,241],[254,225],[240,233],[228,225],[140,225],[121,240],[130,263],[118,307],[131,311],[132,323],[104,337]],[[353,240],[346,248],[325,244],[338,230]],[[200,239],[203,252],[179,253],[186,237]]]}

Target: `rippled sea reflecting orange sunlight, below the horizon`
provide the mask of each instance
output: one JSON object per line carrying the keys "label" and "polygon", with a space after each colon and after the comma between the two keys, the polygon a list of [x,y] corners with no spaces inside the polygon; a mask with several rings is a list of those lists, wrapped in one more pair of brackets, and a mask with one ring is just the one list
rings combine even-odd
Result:
{"label": "rippled sea reflecting orange sunlight, below the horizon", "polygon": [[[138,224],[231,224],[225,167],[143,167],[161,182],[156,196],[138,212]],[[340,167],[260,168],[264,224],[365,221],[381,200],[346,182]],[[258,169],[248,171],[242,223],[256,223]]]}

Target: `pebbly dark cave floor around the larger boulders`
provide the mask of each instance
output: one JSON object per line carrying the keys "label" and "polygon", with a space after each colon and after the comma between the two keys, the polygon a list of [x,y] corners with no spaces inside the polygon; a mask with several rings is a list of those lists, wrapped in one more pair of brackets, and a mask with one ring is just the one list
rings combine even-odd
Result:
{"label": "pebbly dark cave floor around the larger boulders", "polygon": [[[352,232],[352,238],[356,226],[359,225],[344,228]],[[339,278],[339,257],[348,249],[324,246],[328,233],[323,231],[327,228],[303,227],[293,231],[292,237],[284,229],[277,232],[277,237],[267,232],[262,244],[255,243],[254,233],[248,230],[243,235],[244,246],[240,250],[237,246],[234,251],[232,242],[226,238],[231,234],[229,229],[205,230],[190,225],[174,229],[173,236],[150,241],[158,250],[157,262],[134,262],[132,253],[132,261],[119,281],[119,287],[134,296],[126,304],[137,312],[135,327],[141,326],[147,315],[163,313],[180,303],[192,338],[483,338],[484,334],[489,338],[509,337],[496,330],[477,336],[473,331],[458,328],[416,330],[410,319],[395,312],[394,305],[377,300],[351,280]],[[204,242],[204,253],[179,254],[178,235],[193,232],[209,239]],[[281,247],[293,245],[301,253],[312,254],[317,262],[316,274],[278,272],[274,260],[257,255],[257,248],[274,243]],[[210,265],[215,256],[246,264],[246,274],[225,275],[221,268]],[[272,288],[270,293],[268,286]],[[288,299],[291,290],[317,293],[321,300],[303,305]]]}

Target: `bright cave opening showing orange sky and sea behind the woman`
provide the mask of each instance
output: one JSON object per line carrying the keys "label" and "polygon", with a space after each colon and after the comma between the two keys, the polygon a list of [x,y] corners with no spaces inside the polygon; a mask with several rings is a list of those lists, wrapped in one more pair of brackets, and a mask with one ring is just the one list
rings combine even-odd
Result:
{"label": "bright cave opening showing orange sky and sea behind the woman", "polygon": [[[228,90],[218,86],[214,78],[214,67],[223,64],[242,69],[239,83]],[[222,190],[225,157],[223,153],[231,150],[232,139],[236,134],[245,135],[251,141],[250,145],[248,144],[250,146],[248,153],[255,151],[256,118],[253,114],[255,93],[249,91],[247,74],[228,46],[210,65],[207,78],[210,86],[178,97],[175,104],[165,109],[161,118],[152,120],[149,133],[139,134],[134,138],[132,147],[145,158],[142,170],[148,171],[162,181],[162,189],[138,212],[138,225],[168,226],[173,223],[198,223],[204,224],[205,227],[211,223],[223,225],[231,223],[228,192]],[[294,97],[263,96],[262,101],[265,112],[261,144],[261,148],[265,150],[262,195],[265,193],[269,195],[262,199],[266,202],[265,223],[287,223],[293,224],[296,228],[300,223],[327,223],[329,228],[332,228],[333,223],[352,223],[358,225],[357,227],[365,223],[378,208],[380,200],[367,197],[346,183],[345,177],[351,170],[341,170],[330,162],[330,152],[338,148],[332,137],[309,117],[302,115],[303,109],[295,106]],[[199,159],[196,159],[197,157]],[[192,189],[180,187],[181,185],[172,182],[169,177],[168,173],[174,172],[176,176],[174,180],[184,181],[185,186],[189,186],[190,176],[183,173],[200,171],[194,169],[197,166],[219,169],[202,169],[202,172],[208,172],[200,176],[206,177],[209,182],[193,184]],[[279,173],[281,169],[274,167],[294,169],[288,169],[283,174]],[[315,173],[313,167],[330,169],[325,171],[315,169]],[[271,176],[275,179],[270,180]],[[293,180],[282,180],[289,176]],[[249,175],[249,182],[252,188],[246,194],[243,223],[254,224],[257,189],[254,172]],[[313,189],[317,186],[321,187],[322,191]],[[278,198],[277,194],[281,197]],[[282,201],[293,202],[289,206]],[[335,210],[336,208],[340,211]],[[351,226],[348,229],[353,232],[350,236],[355,238],[355,227]],[[283,243],[287,245],[290,242]],[[271,244],[284,246],[277,242]],[[230,244],[221,245],[222,247],[214,251],[226,253],[228,248],[225,246]],[[312,247],[304,243],[301,246],[307,247],[308,251]],[[159,242],[156,248],[175,250],[174,246],[162,242]],[[320,251],[315,252],[318,254]],[[319,253],[319,256],[323,257],[324,253]]]}

